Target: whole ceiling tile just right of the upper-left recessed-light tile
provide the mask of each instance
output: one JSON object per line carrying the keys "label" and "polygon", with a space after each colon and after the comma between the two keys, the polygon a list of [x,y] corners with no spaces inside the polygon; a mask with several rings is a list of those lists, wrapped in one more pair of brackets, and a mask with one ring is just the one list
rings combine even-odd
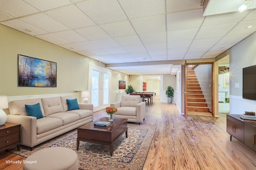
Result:
{"label": "whole ceiling tile just right of the upper-left recessed-light tile", "polygon": [[[32,16],[27,16],[24,18],[20,18],[19,20],[22,20],[30,25],[33,25],[34,27],[37,27],[39,29],[42,29],[48,33],[58,32],[58,31],[65,31],[69,28],[65,25],[62,25],[58,21],[50,18],[46,14],[35,14]],[[40,22],[38,22],[40,21]],[[50,26],[49,26],[50,25]]]}

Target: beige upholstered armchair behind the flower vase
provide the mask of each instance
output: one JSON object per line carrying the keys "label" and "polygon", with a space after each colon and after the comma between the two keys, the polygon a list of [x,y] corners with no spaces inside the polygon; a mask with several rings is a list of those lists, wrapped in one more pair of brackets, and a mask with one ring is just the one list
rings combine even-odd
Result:
{"label": "beige upholstered armchair behind the flower vase", "polygon": [[122,95],[120,102],[110,104],[111,107],[116,107],[117,112],[114,117],[128,119],[128,122],[138,122],[145,120],[146,104],[140,102],[140,96]]}

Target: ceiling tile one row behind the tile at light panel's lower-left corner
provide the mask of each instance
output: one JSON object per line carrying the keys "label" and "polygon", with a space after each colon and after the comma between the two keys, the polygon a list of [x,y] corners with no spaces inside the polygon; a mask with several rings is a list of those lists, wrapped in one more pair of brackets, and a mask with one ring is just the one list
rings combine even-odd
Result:
{"label": "ceiling tile one row behind the tile at light panel's lower-left corner", "polygon": [[182,41],[182,40],[192,40],[198,32],[198,28],[190,29],[180,29],[174,31],[167,31],[167,40],[170,41]]}

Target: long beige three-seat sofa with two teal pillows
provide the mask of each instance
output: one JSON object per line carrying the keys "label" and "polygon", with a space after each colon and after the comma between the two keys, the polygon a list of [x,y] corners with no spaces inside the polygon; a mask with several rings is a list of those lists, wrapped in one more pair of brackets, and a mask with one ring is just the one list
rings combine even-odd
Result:
{"label": "long beige three-seat sofa with two teal pillows", "polygon": [[[7,122],[21,124],[21,145],[30,147],[93,121],[93,105],[78,104],[80,109],[68,109],[67,99],[74,96],[38,98],[9,102]],[[43,117],[28,116],[25,105],[40,104]]]}

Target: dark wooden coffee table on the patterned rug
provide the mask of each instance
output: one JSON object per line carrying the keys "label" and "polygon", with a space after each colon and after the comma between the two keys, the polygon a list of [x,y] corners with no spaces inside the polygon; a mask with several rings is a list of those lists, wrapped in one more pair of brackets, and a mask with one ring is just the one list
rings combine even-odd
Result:
{"label": "dark wooden coffee table on the patterned rug", "polygon": [[102,117],[97,121],[90,122],[77,128],[76,150],[79,148],[80,141],[109,145],[110,156],[113,154],[113,145],[116,141],[126,133],[128,138],[127,120],[122,118],[114,118],[108,127],[94,126],[97,121],[108,121],[108,117]]}

